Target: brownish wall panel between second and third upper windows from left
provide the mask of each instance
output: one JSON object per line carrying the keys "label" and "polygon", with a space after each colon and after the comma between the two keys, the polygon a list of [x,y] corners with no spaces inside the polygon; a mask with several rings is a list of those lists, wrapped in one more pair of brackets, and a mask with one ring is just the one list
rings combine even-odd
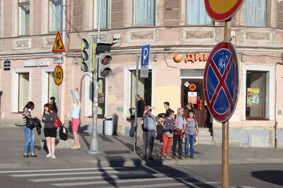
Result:
{"label": "brownish wall panel between second and third upper windows from left", "polygon": [[72,18],[72,31],[83,31],[84,30],[84,0],[74,0],[73,1],[73,18]]}

